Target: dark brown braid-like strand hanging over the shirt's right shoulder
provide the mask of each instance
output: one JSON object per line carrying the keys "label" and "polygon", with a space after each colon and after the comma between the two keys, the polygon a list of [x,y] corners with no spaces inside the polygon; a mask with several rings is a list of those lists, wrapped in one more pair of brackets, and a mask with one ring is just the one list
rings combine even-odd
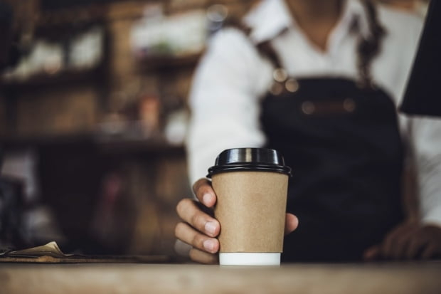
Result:
{"label": "dark brown braid-like strand hanging over the shirt's right shoulder", "polygon": [[361,38],[358,42],[358,73],[360,75],[360,83],[364,88],[372,87],[371,63],[373,59],[380,53],[381,42],[386,36],[386,30],[378,22],[376,6],[371,0],[363,0],[363,6],[366,10],[368,18],[368,26],[370,34],[366,38]]}

